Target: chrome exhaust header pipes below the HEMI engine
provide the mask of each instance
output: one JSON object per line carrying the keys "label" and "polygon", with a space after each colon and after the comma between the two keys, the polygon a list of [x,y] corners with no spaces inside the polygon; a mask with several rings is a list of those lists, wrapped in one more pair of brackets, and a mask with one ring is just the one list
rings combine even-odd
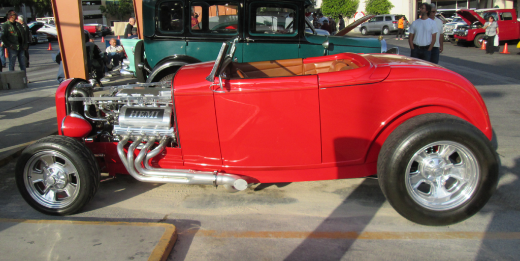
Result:
{"label": "chrome exhaust header pipes below the HEMI engine", "polygon": [[[229,192],[236,192],[248,188],[248,182],[234,174],[219,173],[217,171],[194,171],[192,169],[152,168],[149,166],[148,161],[164,150],[167,138],[162,138],[160,145],[148,153],[150,147],[155,142],[155,137],[150,137],[134,160],[134,151],[137,146],[140,145],[142,139],[141,136],[136,137],[136,140],[128,148],[127,155],[125,155],[123,148],[126,143],[128,143],[128,136],[123,136],[117,147],[119,157],[128,173],[139,181],[187,185],[213,185],[215,187],[223,185]],[[144,159],[146,159],[145,168],[141,166]],[[148,166],[150,168],[148,168]]]}

